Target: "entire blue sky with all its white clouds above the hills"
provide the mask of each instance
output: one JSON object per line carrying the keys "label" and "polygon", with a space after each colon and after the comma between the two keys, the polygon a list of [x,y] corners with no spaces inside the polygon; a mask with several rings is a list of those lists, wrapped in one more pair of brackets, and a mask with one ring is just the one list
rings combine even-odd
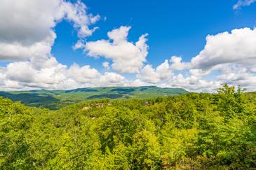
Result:
{"label": "entire blue sky with all its white clouds above the hills", "polygon": [[256,90],[254,2],[3,0],[0,90]]}

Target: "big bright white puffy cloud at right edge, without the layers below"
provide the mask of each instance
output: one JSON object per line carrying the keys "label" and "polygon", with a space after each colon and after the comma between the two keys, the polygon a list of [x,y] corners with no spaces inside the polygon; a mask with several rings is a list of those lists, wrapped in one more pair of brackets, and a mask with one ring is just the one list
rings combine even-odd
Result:
{"label": "big bright white puffy cloud at right edge, without the layers below", "polygon": [[194,69],[211,69],[219,64],[243,64],[254,66],[256,63],[256,29],[243,28],[207,36],[206,46],[191,59]]}

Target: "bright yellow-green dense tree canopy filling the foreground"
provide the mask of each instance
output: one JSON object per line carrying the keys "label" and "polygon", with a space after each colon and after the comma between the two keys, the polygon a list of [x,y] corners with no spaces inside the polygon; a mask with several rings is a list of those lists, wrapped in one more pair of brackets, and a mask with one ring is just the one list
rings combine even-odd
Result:
{"label": "bright yellow-green dense tree canopy filling the foreground", "polygon": [[256,95],[73,104],[58,111],[0,98],[0,169],[256,168]]}

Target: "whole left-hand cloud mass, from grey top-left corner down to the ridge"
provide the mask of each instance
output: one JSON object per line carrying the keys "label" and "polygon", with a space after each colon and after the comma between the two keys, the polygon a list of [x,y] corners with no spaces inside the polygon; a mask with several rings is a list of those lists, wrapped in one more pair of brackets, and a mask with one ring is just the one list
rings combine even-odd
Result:
{"label": "whole left-hand cloud mass, from grey top-left corner down to the ridge", "polygon": [[100,73],[89,65],[68,67],[50,53],[58,22],[67,20],[78,31],[80,41],[73,47],[77,49],[97,29],[89,27],[99,19],[99,15],[88,14],[81,1],[1,1],[0,59],[15,60],[0,68],[1,90],[72,89],[126,81],[118,73]]}

